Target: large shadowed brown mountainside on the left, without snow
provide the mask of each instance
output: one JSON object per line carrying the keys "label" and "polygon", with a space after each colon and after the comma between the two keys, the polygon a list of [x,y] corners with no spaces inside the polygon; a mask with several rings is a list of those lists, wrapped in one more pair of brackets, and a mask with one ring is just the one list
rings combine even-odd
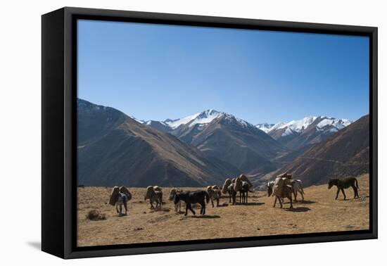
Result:
{"label": "large shadowed brown mountainside on the left, without snow", "polygon": [[114,108],[78,100],[78,184],[203,186],[239,170]]}

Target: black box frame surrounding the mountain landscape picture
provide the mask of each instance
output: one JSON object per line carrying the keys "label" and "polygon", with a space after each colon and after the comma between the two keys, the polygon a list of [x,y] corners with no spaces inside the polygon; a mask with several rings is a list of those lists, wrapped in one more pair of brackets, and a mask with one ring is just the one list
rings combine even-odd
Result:
{"label": "black box frame surrounding the mountain landscape picture", "polygon": [[[80,18],[369,37],[369,141],[372,148],[369,173],[372,177],[370,178],[369,230],[77,247],[77,27],[75,22]],[[42,15],[42,251],[61,258],[84,258],[376,239],[378,236],[377,41],[377,27],[72,7]]]}

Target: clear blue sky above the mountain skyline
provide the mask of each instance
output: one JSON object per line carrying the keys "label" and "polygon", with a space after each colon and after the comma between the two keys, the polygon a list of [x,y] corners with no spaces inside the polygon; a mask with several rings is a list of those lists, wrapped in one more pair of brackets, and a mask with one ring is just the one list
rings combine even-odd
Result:
{"label": "clear blue sky above the mountain skyline", "polygon": [[141,120],[369,113],[367,37],[78,22],[78,97]]}

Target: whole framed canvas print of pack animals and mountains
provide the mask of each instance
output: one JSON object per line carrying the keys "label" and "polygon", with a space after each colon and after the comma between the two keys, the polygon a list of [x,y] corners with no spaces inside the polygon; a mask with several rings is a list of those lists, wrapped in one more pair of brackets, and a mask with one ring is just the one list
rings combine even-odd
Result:
{"label": "whole framed canvas print of pack animals and mountains", "polygon": [[377,28],[42,15],[42,250],[377,237]]}

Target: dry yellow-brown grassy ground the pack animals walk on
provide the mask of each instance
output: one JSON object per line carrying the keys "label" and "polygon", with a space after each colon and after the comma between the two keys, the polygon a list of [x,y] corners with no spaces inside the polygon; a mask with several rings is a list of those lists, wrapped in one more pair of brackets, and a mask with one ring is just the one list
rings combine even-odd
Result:
{"label": "dry yellow-brown grassy ground the pack animals walk on", "polygon": [[[258,191],[249,194],[248,205],[231,205],[228,197],[223,197],[222,207],[212,208],[209,204],[204,216],[198,215],[200,209],[194,209],[196,216],[189,213],[186,217],[173,210],[167,199],[169,188],[163,188],[165,205],[161,210],[149,208],[148,201],[144,201],[145,189],[130,188],[133,198],[128,203],[128,215],[122,217],[108,204],[110,188],[78,188],[77,243],[100,246],[369,229],[369,176],[362,175],[358,181],[360,198],[356,199],[352,189],[345,190],[346,201],[342,194],[335,201],[336,186],[331,190],[327,185],[310,186],[304,189],[305,201],[293,204],[290,210],[287,199],[283,209],[278,202],[273,208],[274,198]],[[87,219],[90,210],[98,210],[106,220]]]}

